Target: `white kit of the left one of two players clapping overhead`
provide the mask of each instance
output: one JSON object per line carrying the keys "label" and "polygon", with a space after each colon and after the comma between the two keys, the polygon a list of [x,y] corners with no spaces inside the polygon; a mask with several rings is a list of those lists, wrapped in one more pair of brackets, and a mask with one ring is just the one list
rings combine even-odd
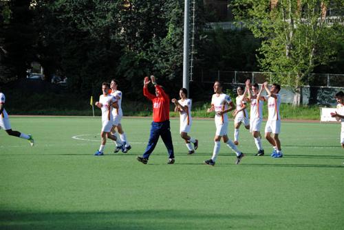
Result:
{"label": "white kit of the left one of two players clapping overhead", "polygon": [[265,97],[257,98],[251,97],[251,107],[250,107],[250,132],[260,131],[261,122],[263,121],[263,105]]}

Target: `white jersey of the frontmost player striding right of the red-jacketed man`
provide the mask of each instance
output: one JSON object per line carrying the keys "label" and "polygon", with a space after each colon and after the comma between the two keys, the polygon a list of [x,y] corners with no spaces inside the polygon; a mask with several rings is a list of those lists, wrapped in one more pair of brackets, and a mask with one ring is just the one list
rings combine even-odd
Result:
{"label": "white jersey of the frontmost player striding right of the red-jacketed man", "polygon": [[228,109],[228,104],[232,102],[229,95],[224,93],[221,94],[213,94],[211,97],[211,104],[214,106],[215,109],[215,124],[224,124],[228,123],[228,115],[224,113],[223,115],[217,115],[217,111],[224,111]]}

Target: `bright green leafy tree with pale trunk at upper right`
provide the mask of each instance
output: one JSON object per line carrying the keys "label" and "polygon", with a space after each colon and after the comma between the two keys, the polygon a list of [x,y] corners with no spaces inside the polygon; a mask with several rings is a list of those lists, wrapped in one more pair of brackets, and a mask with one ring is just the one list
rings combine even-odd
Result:
{"label": "bright green leafy tree with pale trunk at upper right", "polygon": [[330,3],[332,10],[340,10],[343,0],[235,0],[233,3],[236,19],[246,21],[252,33],[263,39],[258,56],[261,69],[289,73],[273,80],[291,86],[294,105],[302,103],[302,87],[308,84],[314,67],[326,65],[336,57],[334,38],[343,38],[343,30],[325,23]]}

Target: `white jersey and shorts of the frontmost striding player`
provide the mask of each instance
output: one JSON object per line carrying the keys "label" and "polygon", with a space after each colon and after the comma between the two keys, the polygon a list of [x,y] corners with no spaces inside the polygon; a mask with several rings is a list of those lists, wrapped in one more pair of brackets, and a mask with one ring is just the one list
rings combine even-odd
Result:
{"label": "white jersey and shorts of the frontmost striding player", "polygon": [[223,115],[217,115],[216,112],[224,111],[228,109],[228,104],[232,102],[229,95],[224,93],[221,94],[213,94],[211,98],[211,104],[214,106],[215,109],[215,126],[216,126],[216,135],[217,136],[224,136],[228,133],[228,115],[224,113]]}

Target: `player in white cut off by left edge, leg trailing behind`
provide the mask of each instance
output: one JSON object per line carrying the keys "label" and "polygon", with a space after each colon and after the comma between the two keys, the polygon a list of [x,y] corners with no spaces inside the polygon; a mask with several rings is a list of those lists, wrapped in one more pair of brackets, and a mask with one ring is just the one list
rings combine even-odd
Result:
{"label": "player in white cut off by left edge, leg trailing behind", "polygon": [[5,130],[6,133],[10,136],[27,139],[30,142],[30,145],[34,146],[34,139],[32,138],[32,135],[26,135],[25,133],[20,133],[18,131],[12,130],[10,119],[8,118],[8,113],[5,109],[5,102],[6,97],[3,93],[1,93],[0,89],[0,129],[2,128],[3,130]]}

